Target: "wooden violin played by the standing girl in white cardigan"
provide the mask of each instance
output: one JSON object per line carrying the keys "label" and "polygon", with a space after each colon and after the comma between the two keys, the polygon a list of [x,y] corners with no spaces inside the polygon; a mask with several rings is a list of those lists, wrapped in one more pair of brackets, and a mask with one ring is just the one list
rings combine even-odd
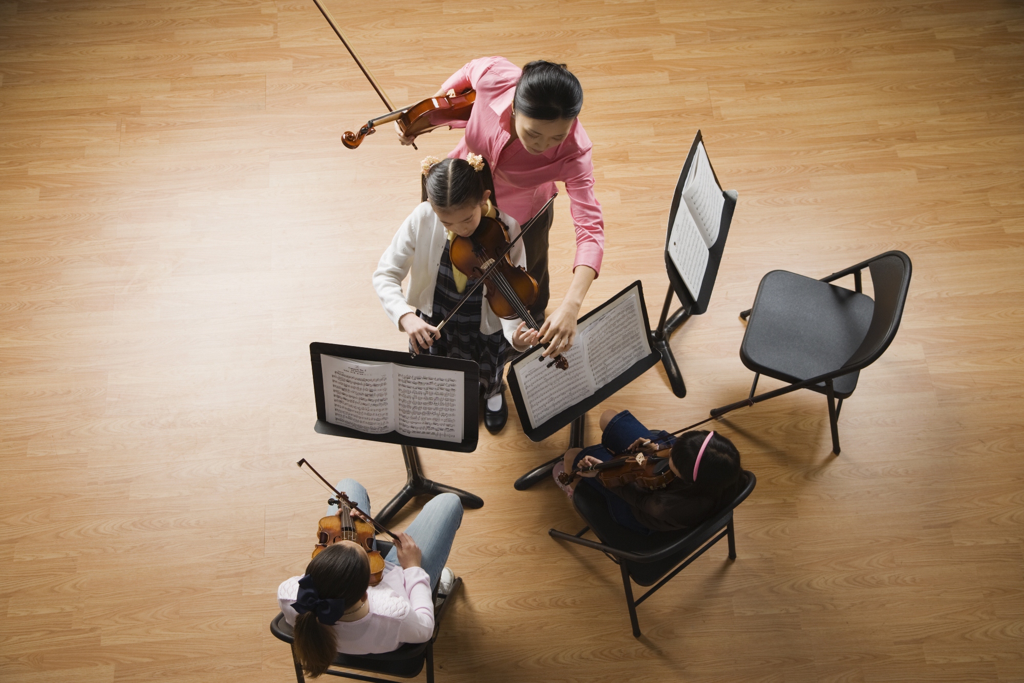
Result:
{"label": "wooden violin played by the standing girl in white cardigan", "polygon": [[[530,329],[538,330],[537,322],[529,314],[529,306],[537,301],[540,288],[525,268],[512,263],[506,253],[508,246],[509,233],[504,223],[497,218],[481,216],[471,236],[456,236],[449,256],[452,264],[467,275],[487,273],[488,287],[484,296],[495,315],[506,319],[519,317]],[[505,256],[496,261],[503,253]],[[568,360],[560,353],[553,356],[549,365],[559,370],[568,370],[569,367]]]}

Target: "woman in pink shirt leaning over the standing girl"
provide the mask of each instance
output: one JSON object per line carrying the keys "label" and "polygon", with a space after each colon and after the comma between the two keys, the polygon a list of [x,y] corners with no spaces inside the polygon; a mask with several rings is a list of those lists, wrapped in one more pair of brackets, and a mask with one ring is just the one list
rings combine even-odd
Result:
{"label": "woman in pink shirt leaning over the standing girl", "polygon": [[[568,292],[546,319],[548,231],[553,211],[523,237],[526,268],[541,288],[530,313],[544,321],[542,341],[551,342],[549,353],[564,351],[572,346],[580,306],[601,269],[604,254],[604,221],[594,197],[593,145],[577,119],[583,88],[565,65],[538,60],[520,70],[504,57],[470,61],[437,94],[466,88],[476,90],[476,101],[469,121],[456,124],[466,127],[466,135],[449,157],[465,158],[472,152],[487,160],[502,211],[525,223],[555,193],[554,181],[565,183],[577,233],[575,261]],[[414,138],[399,131],[398,139],[412,144]]]}

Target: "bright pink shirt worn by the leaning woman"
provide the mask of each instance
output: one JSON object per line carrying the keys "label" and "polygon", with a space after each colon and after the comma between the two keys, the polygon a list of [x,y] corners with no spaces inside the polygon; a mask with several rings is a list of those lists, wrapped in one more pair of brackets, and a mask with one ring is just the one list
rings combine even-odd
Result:
{"label": "bright pink shirt worn by the leaning woman", "polygon": [[509,118],[521,73],[505,57],[481,57],[444,81],[443,90],[476,90],[469,121],[454,125],[465,126],[466,135],[449,157],[465,159],[467,152],[482,155],[490,164],[499,208],[520,224],[532,218],[555,193],[555,180],[564,182],[577,232],[572,267],[589,265],[599,273],[604,255],[604,219],[594,197],[594,163],[590,156],[593,144],[580,120],[572,123],[564,140],[543,154],[529,154],[518,139],[505,146],[512,137]]}

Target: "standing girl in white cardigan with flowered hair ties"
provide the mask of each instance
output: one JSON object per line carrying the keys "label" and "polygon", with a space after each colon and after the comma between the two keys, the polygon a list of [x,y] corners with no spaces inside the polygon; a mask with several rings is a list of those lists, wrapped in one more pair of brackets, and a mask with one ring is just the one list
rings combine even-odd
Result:
{"label": "standing girl in white cardigan with flowered hair ties", "polygon": [[[527,330],[518,318],[507,321],[495,315],[484,298],[485,285],[437,331],[436,326],[471,284],[469,275],[455,268],[449,256],[456,236],[473,234],[481,216],[502,221],[510,239],[519,233],[519,223],[507,214],[499,214],[490,203],[490,190],[484,188],[482,177],[483,159],[476,155],[467,159],[424,160],[429,201],[416,207],[402,222],[381,256],[373,282],[388,317],[409,335],[411,350],[479,364],[480,392],[487,401],[483,424],[497,433],[508,420],[502,391],[505,362],[513,349],[529,348],[540,335]],[[509,256],[514,264],[525,265],[521,241]],[[402,294],[401,281],[409,273],[409,287]]]}

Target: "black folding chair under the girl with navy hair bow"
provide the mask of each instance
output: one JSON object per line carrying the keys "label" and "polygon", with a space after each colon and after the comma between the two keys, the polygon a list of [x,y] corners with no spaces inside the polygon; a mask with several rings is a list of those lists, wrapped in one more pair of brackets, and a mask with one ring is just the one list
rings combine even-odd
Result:
{"label": "black folding chair under the girl with navy hair bow", "polygon": [[[384,541],[377,541],[378,550],[381,550],[381,554],[386,554],[387,550],[390,549],[390,544]],[[455,580],[452,585],[451,592],[445,596],[437,607],[434,613],[434,634],[425,643],[406,643],[396,650],[390,652],[383,652],[381,654],[342,654],[338,653],[335,657],[332,667],[338,667],[341,669],[354,669],[356,671],[365,671],[373,674],[382,674],[384,676],[397,676],[399,678],[415,678],[420,675],[423,671],[423,666],[426,664],[427,667],[427,683],[434,683],[434,641],[437,640],[437,634],[440,632],[441,628],[441,617],[444,616],[444,612],[447,609],[449,603],[452,602],[452,596],[455,595],[459,587],[462,586],[462,578]],[[294,632],[292,626],[285,621],[284,612],[278,612],[278,615],[273,617],[270,622],[270,633],[278,640],[282,640],[289,645],[295,642]],[[305,682],[305,676],[302,674],[302,665],[295,657],[295,647],[292,647],[292,663],[295,665],[295,679],[298,683]],[[371,681],[372,683],[393,683],[386,678],[375,678],[373,676],[364,676],[361,674],[352,674],[346,671],[335,671],[334,669],[328,669],[327,674],[331,676],[340,676],[341,678],[352,678],[357,681]]]}

